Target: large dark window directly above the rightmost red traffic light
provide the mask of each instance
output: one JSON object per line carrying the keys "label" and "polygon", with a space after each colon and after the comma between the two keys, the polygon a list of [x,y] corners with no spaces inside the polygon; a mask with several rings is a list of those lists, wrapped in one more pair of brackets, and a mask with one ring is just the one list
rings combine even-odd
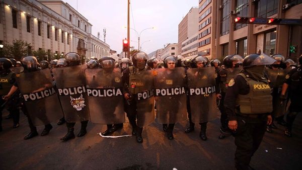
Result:
{"label": "large dark window directly above the rightmost red traffic light", "polygon": [[267,18],[278,12],[279,0],[258,1],[255,6],[257,17]]}

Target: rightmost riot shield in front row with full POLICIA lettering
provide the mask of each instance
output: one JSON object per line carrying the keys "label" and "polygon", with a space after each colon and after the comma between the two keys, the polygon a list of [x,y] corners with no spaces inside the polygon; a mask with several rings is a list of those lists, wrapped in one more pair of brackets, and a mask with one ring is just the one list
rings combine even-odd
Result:
{"label": "rightmost riot shield in front row with full POLICIA lettering", "polygon": [[215,119],[217,117],[215,69],[189,68],[187,76],[192,122],[204,123]]}

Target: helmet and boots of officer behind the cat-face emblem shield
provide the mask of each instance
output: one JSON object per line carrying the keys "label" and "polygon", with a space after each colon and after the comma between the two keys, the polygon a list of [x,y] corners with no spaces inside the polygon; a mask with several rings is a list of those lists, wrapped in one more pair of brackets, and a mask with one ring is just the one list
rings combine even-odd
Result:
{"label": "helmet and boots of officer behind the cat-face emblem shield", "polygon": [[[67,65],[66,65],[67,67],[81,64],[81,57],[78,53],[75,53],[75,52],[69,52],[69,53],[65,54],[65,59],[67,62]],[[88,120],[81,121],[81,130],[78,133],[78,137],[82,137],[87,133],[87,130],[86,130],[87,124],[88,124]],[[75,125],[75,122],[66,122],[67,134],[64,137],[62,137],[60,140],[67,141],[67,140],[73,139],[75,137],[74,133],[73,133],[74,125]]]}

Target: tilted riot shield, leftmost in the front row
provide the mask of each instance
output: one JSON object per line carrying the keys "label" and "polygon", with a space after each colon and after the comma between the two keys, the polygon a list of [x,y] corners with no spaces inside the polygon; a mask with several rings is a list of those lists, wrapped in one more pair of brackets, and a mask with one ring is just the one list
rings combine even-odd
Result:
{"label": "tilted riot shield, leftmost in the front row", "polygon": [[62,118],[62,108],[49,69],[21,73],[17,82],[35,126],[57,122]]}

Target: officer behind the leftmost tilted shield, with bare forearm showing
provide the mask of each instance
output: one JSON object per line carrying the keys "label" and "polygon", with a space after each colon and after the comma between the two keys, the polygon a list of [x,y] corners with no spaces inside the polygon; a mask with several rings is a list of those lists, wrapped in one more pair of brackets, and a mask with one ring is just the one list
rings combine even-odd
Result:
{"label": "officer behind the leftmost tilted shield, with bare forearm showing", "polygon": [[[22,61],[23,66],[25,68],[24,69],[25,73],[26,72],[33,72],[33,71],[39,70],[39,68],[37,66],[38,61],[37,61],[36,57],[34,57],[34,56],[27,56],[27,57],[22,58],[21,61]],[[18,83],[16,81],[15,84],[14,84],[14,86],[11,88],[10,92],[8,93],[8,95],[4,96],[4,99],[5,100],[9,99],[17,91],[18,91]],[[24,137],[24,139],[27,140],[27,139],[30,139],[30,138],[33,138],[33,137],[37,136],[38,132],[37,132],[36,126],[34,126],[32,120],[31,120],[31,118],[30,118],[30,116],[28,114],[28,111],[27,111],[26,106],[25,106],[24,103],[21,104],[21,110],[27,116],[28,124],[29,124],[29,127],[30,127],[30,133]],[[45,125],[45,128],[42,131],[41,136],[48,135],[48,133],[49,133],[49,131],[51,129],[52,129],[51,124]]]}

